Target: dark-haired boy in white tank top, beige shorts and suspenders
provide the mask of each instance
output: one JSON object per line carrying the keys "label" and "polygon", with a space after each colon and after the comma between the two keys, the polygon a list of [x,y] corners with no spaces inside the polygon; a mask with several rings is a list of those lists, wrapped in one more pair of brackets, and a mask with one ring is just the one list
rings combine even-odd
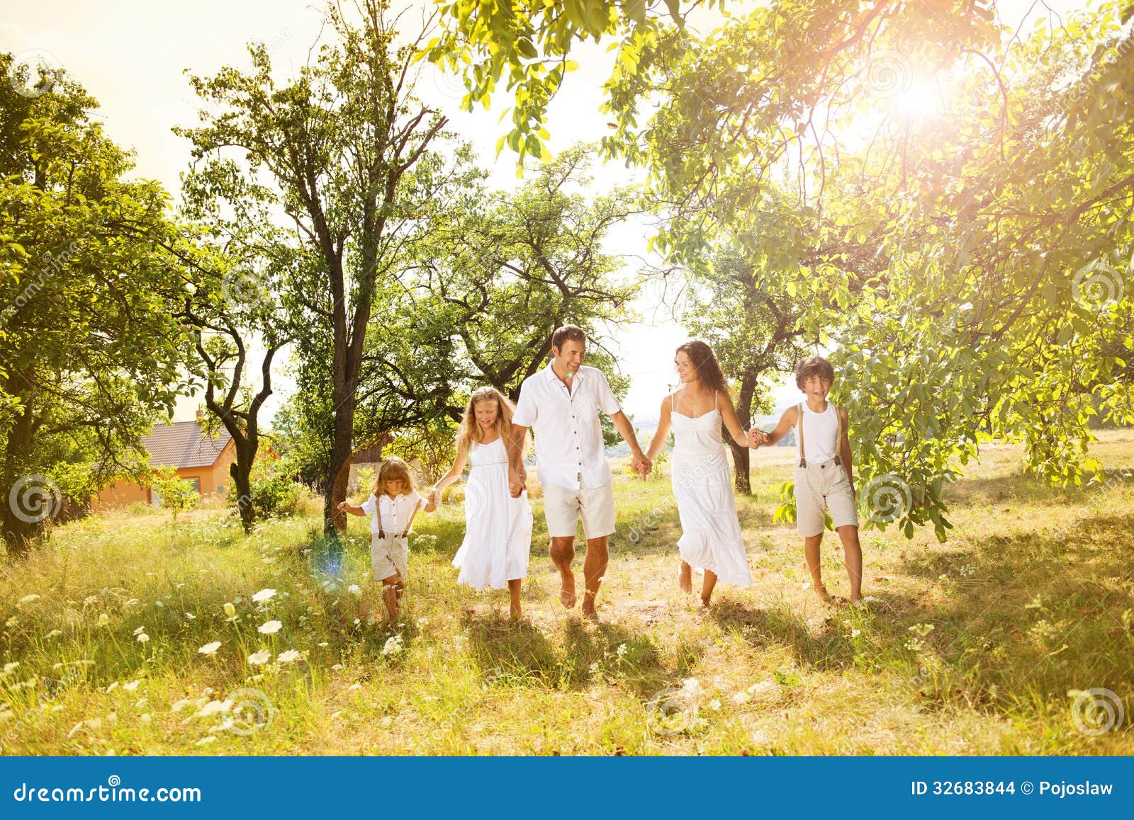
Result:
{"label": "dark-haired boy in white tank top, beige shorts and suspenders", "polygon": [[847,411],[827,401],[835,383],[831,362],[813,356],[795,374],[805,401],[784,411],[771,433],[753,427],[748,435],[755,446],[770,446],[795,428],[798,460],[795,470],[796,529],[803,536],[803,553],[812,586],[823,600],[819,546],[823,540],[824,512],[830,512],[835,531],[843,541],[844,563],[850,581],[850,603],[862,603],[862,547],[858,544],[857,496],[850,471],[850,441]]}

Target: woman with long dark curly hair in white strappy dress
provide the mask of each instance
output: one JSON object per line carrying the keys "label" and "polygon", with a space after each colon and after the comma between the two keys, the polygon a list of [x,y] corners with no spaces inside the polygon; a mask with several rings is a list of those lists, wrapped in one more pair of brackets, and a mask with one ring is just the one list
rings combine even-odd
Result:
{"label": "woman with long dark curly hair in white strappy dress", "polygon": [[682,520],[678,583],[682,590],[692,592],[693,567],[704,570],[701,605],[708,607],[718,580],[752,583],[721,425],[738,445],[751,444],[736,418],[712,349],[704,342],[686,342],[677,349],[674,364],[682,387],[661,402],[661,418],[646,458],[653,460],[672,427],[671,477]]}

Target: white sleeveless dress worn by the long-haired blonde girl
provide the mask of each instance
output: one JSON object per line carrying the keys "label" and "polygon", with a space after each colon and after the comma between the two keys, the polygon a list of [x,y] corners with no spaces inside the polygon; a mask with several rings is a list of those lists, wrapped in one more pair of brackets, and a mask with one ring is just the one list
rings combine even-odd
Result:
{"label": "white sleeveless dress worn by the long-haired blonde girl", "polygon": [[532,506],[527,490],[508,492],[508,452],[503,439],[474,443],[468,449],[465,485],[465,540],[452,558],[460,570],[457,583],[474,589],[505,589],[527,576],[532,550]]}

